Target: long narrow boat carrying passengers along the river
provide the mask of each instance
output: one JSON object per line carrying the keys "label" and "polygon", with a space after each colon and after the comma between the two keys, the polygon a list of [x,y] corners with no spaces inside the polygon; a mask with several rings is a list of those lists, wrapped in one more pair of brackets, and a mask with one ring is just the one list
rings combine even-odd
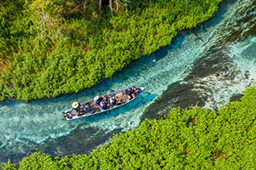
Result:
{"label": "long narrow boat carrying passengers along the river", "polygon": [[[137,99],[137,97],[143,93],[145,88],[137,88],[136,93],[131,94],[131,99],[129,99],[129,96],[126,94],[127,89],[128,88],[125,88],[111,94],[96,96],[94,99],[82,104],[79,104],[79,102],[73,102],[72,108],[67,111],[63,111],[62,114],[67,122],[73,122],[87,116],[94,116],[102,112],[111,111],[130,103],[134,99]],[[102,104],[102,99],[106,101],[106,104]],[[115,103],[112,101],[113,99],[116,100]]]}

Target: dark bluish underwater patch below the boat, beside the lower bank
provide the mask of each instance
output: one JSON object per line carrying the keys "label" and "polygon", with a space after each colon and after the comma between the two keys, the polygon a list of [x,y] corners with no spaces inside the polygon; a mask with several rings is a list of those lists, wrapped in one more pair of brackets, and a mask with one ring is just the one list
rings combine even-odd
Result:
{"label": "dark bluish underwater patch below the boat, beside the lower bank", "polygon": [[72,154],[89,154],[95,150],[96,146],[108,141],[115,133],[120,133],[121,129],[116,128],[109,133],[96,127],[86,127],[79,125],[67,136],[61,136],[54,140],[49,140],[40,145],[37,150],[43,151],[51,156],[70,156]]}

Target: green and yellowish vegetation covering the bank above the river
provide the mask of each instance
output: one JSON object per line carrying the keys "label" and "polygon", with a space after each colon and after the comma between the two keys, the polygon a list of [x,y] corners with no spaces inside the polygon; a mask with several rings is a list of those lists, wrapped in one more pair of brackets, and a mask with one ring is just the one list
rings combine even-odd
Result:
{"label": "green and yellowish vegetation covering the bank above the river", "polygon": [[209,19],[221,1],[2,1],[0,100],[90,88]]}

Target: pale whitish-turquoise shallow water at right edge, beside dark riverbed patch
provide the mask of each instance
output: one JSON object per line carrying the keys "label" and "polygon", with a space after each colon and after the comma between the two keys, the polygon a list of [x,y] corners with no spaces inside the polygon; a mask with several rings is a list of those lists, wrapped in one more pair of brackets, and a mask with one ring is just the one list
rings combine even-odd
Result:
{"label": "pale whitish-turquoise shallow water at right edge, beside dark riverbed patch", "polygon": [[[229,72],[203,77],[195,84],[195,90],[201,95],[211,96],[207,99],[206,108],[214,109],[225,105],[234,94],[242,94],[246,88],[256,85],[256,37],[231,44],[228,56],[233,59]],[[235,76],[226,78],[230,74]]]}

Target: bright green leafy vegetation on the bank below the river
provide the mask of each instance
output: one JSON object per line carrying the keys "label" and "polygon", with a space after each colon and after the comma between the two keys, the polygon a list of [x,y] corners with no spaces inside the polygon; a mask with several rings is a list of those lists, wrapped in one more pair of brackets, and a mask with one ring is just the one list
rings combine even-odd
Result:
{"label": "bright green leafy vegetation on the bank below the river", "polygon": [[113,137],[89,156],[34,153],[3,169],[255,169],[256,87],[218,113],[173,109],[160,121]]}

